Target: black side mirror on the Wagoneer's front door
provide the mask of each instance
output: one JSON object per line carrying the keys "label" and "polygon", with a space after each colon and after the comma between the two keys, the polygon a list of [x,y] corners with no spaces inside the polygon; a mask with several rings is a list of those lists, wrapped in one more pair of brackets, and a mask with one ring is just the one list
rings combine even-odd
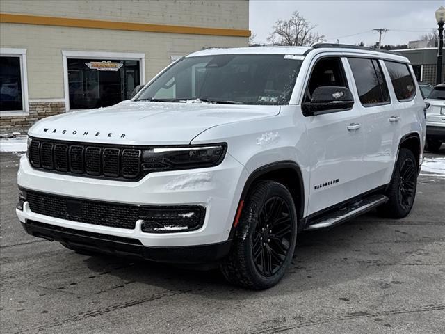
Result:
{"label": "black side mirror on the Wagoneer's front door", "polygon": [[349,88],[321,86],[315,88],[311,102],[302,104],[302,111],[305,116],[316,116],[348,110],[353,105],[354,97]]}

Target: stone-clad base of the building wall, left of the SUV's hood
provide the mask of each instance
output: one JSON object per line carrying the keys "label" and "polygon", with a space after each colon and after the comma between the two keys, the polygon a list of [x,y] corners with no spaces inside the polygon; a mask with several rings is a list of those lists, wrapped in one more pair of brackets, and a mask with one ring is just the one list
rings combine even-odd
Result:
{"label": "stone-clad base of the building wall, left of the SUV's hood", "polygon": [[26,134],[31,125],[38,120],[58,113],[65,113],[65,102],[29,102],[29,115],[0,117],[0,134],[10,132]]}

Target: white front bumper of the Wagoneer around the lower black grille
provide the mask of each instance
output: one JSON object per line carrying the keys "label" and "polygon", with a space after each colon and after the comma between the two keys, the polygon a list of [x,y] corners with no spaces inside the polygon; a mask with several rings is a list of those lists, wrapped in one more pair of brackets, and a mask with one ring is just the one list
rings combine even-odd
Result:
{"label": "white front bumper of the Wagoneer around the lower black grille", "polygon": [[247,177],[247,170],[229,154],[216,167],[151,173],[138,182],[99,180],[35,170],[28,159],[22,157],[17,183],[24,189],[55,196],[129,205],[200,205],[205,207],[205,218],[199,230],[147,233],[141,230],[140,221],[136,222],[134,229],[69,221],[32,212],[29,202],[24,202],[23,210],[16,209],[16,213],[25,225],[28,221],[35,221],[58,228],[136,239],[140,242],[139,246],[152,248],[220,244],[229,238]]}

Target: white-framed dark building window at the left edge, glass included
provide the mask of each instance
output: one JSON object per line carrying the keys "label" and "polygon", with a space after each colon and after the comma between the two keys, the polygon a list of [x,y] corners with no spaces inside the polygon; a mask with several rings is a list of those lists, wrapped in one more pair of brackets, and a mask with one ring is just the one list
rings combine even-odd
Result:
{"label": "white-framed dark building window at the left edge, glass included", "polygon": [[0,49],[0,115],[28,113],[26,49]]}

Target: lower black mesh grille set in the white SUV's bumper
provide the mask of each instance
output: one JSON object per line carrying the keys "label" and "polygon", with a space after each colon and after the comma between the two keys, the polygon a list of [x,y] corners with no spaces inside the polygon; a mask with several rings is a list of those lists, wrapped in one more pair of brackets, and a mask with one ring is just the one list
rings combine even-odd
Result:
{"label": "lower black mesh grille set in the white SUV's bumper", "polygon": [[[54,218],[77,221],[92,225],[109,226],[112,228],[134,229],[136,221],[143,219],[160,226],[180,223],[197,229],[202,227],[205,208],[199,205],[179,206],[146,206],[122,205],[118,203],[83,200],[65,196],[49,195],[37,191],[22,189],[29,208],[35,214]],[[196,214],[191,214],[191,212]],[[193,216],[184,220],[184,217]],[[187,229],[187,230],[192,230]],[[147,231],[148,232],[148,231]],[[152,231],[150,231],[152,232]],[[156,232],[175,232],[171,229],[156,230]],[[186,232],[186,230],[182,231]]]}

